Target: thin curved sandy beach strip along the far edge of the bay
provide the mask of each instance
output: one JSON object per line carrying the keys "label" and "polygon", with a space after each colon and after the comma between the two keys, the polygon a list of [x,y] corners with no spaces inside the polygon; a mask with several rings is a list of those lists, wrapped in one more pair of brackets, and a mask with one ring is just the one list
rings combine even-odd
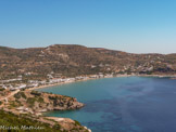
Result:
{"label": "thin curved sandy beach strip along the far edge of the bay", "polygon": [[103,78],[121,78],[121,77],[158,77],[158,78],[176,78],[176,75],[117,75],[113,77],[102,77],[102,78],[88,78],[84,80],[76,80],[76,81],[67,81],[67,82],[59,82],[59,83],[53,83],[53,84],[47,84],[47,85],[39,85],[35,88],[29,88],[27,90],[37,90],[37,89],[43,89],[43,88],[50,88],[50,87],[56,87],[61,84],[67,84],[67,83],[74,83],[74,82],[79,82],[79,81],[88,81],[88,80],[96,80],[96,79],[103,79]]}

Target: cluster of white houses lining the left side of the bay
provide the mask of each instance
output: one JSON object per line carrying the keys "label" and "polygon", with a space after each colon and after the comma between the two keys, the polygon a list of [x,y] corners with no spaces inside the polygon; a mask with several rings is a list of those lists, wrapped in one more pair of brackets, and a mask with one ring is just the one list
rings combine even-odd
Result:
{"label": "cluster of white houses lining the left side of the bay", "polygon": [[[10,89],[10,90],[18,90],[18,89],[28,89],[28,88],[36,88],[40,85],[50,85],[54,83],[62,83],[62,82],[74,82],[74,81],[79,81],[79,80],[88,80],[88,79],[96,79],[96,78],[105,78],[105,77],[113,77],[113,74],[98,74],[98,75],[90,75],[90,76],[78,76],[75,78],[53,78],[51,75],[48,75],[49,79],[47,80],[28,80],[27,83],[16,83],[12,84],[11,82],[13,81],[20,81],[22,80],[21,78],[17,77],[16,79],[9,79],[9,80],[0,80],[0,87],[3,89]],[[8,83],[7,83],[8,82]]]}

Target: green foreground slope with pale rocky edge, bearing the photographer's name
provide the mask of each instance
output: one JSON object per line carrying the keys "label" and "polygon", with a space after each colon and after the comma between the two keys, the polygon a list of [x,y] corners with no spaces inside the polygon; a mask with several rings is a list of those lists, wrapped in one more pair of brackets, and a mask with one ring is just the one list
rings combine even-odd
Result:
{"label": "green foreground slope with pale rocky edge, bearing the photographer's name", "polygon": [[67,118],[14,115],[0,110],[1,132],[91,132],[78,121]]}

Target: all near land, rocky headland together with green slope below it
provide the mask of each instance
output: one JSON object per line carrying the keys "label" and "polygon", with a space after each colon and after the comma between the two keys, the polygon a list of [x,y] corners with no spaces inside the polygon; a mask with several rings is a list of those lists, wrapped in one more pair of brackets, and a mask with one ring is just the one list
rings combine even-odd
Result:
{"label": "all near land, rocky headland together with green slope below it", "polygon": [[27,127],[33,127],[34,129],[39,127],[41,128],[40,130],[34,131],[90,132],[76,120],[42,116],[42,113],[49,110],[81,108],[84,104],[77,102],[74,97],[32,90],[21,90],[13,96],[9,96],[12,92],[9,91],[8,93],[8,90],[0,91],[0,93],[5,91],[7,95],[1,95],[1,98],[4,100],[0,101],[1,126],[7,128],[17,126],[16,131],[27,131]]}

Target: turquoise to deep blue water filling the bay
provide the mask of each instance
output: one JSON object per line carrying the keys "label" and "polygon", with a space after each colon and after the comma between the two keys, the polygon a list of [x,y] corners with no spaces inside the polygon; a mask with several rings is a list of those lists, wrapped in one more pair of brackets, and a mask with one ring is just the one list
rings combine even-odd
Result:
{"label": "turquoise to deep blue water filling the bay", "polygon": [[176,132],[176,80],[123,77],[88,80],[40,89],[76,97],[78,110],[50,111],[93,132]]}

